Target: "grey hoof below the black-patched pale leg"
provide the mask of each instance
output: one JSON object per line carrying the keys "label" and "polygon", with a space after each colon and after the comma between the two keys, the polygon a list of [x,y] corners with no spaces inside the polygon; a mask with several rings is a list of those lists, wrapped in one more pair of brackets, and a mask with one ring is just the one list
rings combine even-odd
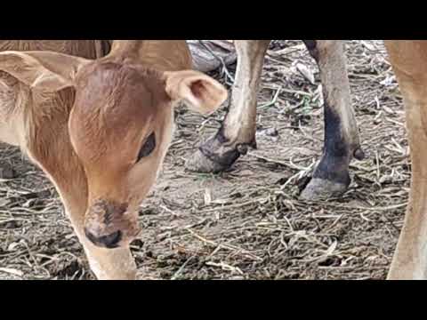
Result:
{"label": "grey hoof below the black-patched pale leg", "polygon": [[302,190],[300,199],[318,201],[326,200],[331,197],[342,196],[349,188],[348,185],[330,180],[313,178],[310,183]]}

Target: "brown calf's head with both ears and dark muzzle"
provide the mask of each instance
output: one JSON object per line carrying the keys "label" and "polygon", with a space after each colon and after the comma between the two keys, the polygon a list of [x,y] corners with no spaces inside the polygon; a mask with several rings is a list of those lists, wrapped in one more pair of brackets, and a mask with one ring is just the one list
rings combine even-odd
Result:
{"label": "brown calf's head with both ears and dark muzzle", "polygon": [[75,88],[68,133],[89,190],[85,235],[106,248],[139,233],[138,207],[172,139],[175,103],[208,114],[227,98],[221,84],[196,71],[160,72],[123,60],[0,52],[0,69],[36,90]]}

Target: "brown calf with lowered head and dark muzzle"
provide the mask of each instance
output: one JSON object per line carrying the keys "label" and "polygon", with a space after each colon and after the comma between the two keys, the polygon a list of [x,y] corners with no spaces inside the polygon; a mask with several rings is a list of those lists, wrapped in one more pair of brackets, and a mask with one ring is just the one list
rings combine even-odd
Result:
{"label": "brown calf with lowered head and dark muzzle", "polygon": [[190,70],[185,41],[115,41],[98,60],[94,42],[22,43],[0,52],[0,139],[52,180],[95,275],[133,279],[129,243],[172,139],[173,106],[210,113],[227,91]]}

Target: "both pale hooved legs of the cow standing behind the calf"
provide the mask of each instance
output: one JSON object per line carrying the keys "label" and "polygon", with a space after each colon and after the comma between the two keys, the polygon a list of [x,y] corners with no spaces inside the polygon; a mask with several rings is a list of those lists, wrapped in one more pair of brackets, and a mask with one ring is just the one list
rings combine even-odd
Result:
{"label": "both pale hooved legs of the cow standing behind the calf", "polygon": [[[187,167],[197,172],[228,169],[247,147],[256,148],[257,92],[270,40],[237,40],[236,82],[222,128],[192,156]],[[313,179],[302,192],[306,199],[339,196],[350,184],[349,164],[362,159],[359,130],[350,104],[350,84],[341,41],[305,40],[317,61],[325,98],[324,154]]]}

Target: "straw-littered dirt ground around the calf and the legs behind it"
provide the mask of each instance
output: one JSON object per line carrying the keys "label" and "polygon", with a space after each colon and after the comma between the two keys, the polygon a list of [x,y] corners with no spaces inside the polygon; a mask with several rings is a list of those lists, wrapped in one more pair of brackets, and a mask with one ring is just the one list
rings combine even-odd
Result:
{"label": "straw-littered dirt ground around the calf and the legs behind it", "polygon": [[[300,41],[274,41],[259,95],[258,149],[218,175],[184,163],[220,125],[176,112],[156,188],[132,244],[145,279],[384,279],[402,227],[410,162],[399,89],[381,41],[347,42],[353,106],[367,157],[341,199],[298,200],[323,146],[318,69]],[[234,70],[215,77],[229,84]],[[313,80],[311,77],[314,77]],[[311,78],[311,79],[310,79]],[[93,279],[44,174],[1,149],[0,278]]]}

